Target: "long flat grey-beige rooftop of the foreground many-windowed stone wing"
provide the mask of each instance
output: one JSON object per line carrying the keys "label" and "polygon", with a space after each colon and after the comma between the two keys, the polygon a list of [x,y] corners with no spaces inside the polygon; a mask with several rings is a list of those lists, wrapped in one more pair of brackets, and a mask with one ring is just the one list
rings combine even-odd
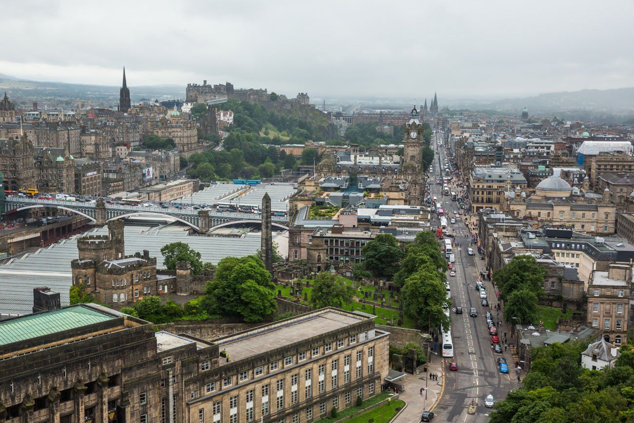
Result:
{"label": "long flat grey-beige rooftop of the foreground many-windowed stone wing", "polygon": [[[271,349],[281,348],[305,341],[306,339],[342,329],[354,323],[368,320],[365,316],[353,316],[337,311],[325,310],[297,320],[271,325],[264,330],[255,329],[252,333],[238,334],[235,337],[219,339],[215,343],[229,355],[230,362],[242,360],[250,356],[266,353]],[[226,360],[220,360],[226,364]]]}

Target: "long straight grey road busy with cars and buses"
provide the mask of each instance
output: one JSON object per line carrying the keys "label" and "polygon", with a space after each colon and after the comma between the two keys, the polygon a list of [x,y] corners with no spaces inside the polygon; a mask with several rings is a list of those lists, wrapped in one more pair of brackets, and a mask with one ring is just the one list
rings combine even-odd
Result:
{"label": "long straight grey road busy with cars and buses", "polygon": [[[434,175],[439,174],[440,164],[446,158],[444,148],[438,148],[439,140],[440,136],[436,134],[434,138],[434,148],[436,149]],[[454,165],[452,164],[452,166]],[[450,221],[451,217],[454,217],[453,211],[458,211],[458,203],[452,201],[450,195],[442,195],[442,186],[436,184],[434,176],[430,176],[429,181],[432,184],[430,195],[435,195],[438,198],[448,221]],[[484,407],[484,398],[488,394],[493,394],[495,401],[502,400],[510,389],[517,389],[517,382],[512,382],[507,374],[501,374],[498,370],[496,360],[499,356],[505,356],[507,362],[512,363],[510,352],[496,354],[491,349],[491,337],[484,318],[484,313],[489,309],[482,306],[479,293],[475,290],[475,282],[479,278],[484,261],[480,260],[477,250],[474,256],[469,256],[467,253],[471,235],[462,222],[463,216],[456,217],[455,224],[449,223],[450,228],[455,231],[455,241],[460,244],[458,247],[453,247],[456,276],[451,277],[448,273],[447,279],[450,283],[452,303],[451,333],[454,358],[451,360],[457,363],[458,371],[448,371],[448,363],[444,363],[446,376],[444,394],[434,412],[437,414],[436,421],[487,422],[491,408]],[[439,225],[439,219],[434,214],[432,227],[437,225]],[[493,285],[486,280],[483,283],[486,287],[488,300],[495,307],[497,302]],[[462,307],[464,311],[462,315],[455,313],[456,306]],[[478,315],[475,318],[469,316],[471,307],[477,309]],[[495,308],[491,313],[495,318]],[[501,339],[503,339],[505,331],[510,332],[505,326],[501,329],[498,327],[498,330],[500,330]],[[469,415],[468,408],[472,399],[476,401],[477,408],[474,415]]]}

